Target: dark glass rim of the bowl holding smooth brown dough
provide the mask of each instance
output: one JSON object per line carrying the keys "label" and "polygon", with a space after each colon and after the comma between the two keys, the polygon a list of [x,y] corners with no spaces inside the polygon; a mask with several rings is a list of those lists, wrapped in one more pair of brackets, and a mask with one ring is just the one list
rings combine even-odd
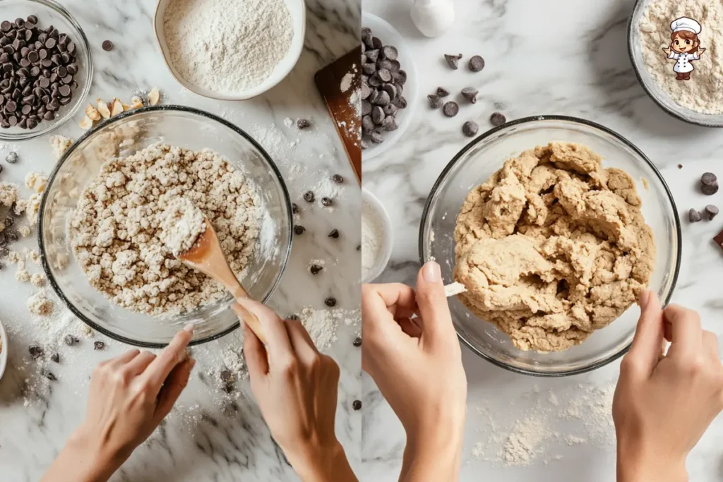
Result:
{"label": "dark glass rim of the bowl holding smooth brown dough", "polygon": [[[519,126],[521,124],[529,124],[531,122],[539,122],[539,121],[566,121],[566,122],[572,122],[573,124],[582,124],[584,126],[592,127],[593,129],[597,129],[604,134],[608,134],[611,137],[614,137],[617,139],[617,141],[623,143],[626,147],[629,147],[630,150],[633,150],[636,152],[637,155],[639,155],[643,160],[645,160],[646,163],[650,166],[650,168],[653,170],[655,175],[658,178],[658,181],[662,184],[665,194],[667,194],[668,201],[670,202],[670,205],[672,207],[673,216],[675,218],[675,233],[677,238],[680,240],[683,238],[683,233],[680,228],[680,217],[678,216],[677,212],[677,206],[675,205],[675,200],[673,199],[672,193],[670,192],[670,189],[668,187],[668,184],[665,182],[665,179],[663,178],[660,171],[658,171],[658,168],[652,163],[652,161],[643,154],[643,152],[638,149],[635,145],[633,145],[632,142],[630,142],[628,139],[625,139],[625,137],[621,136],[620,134],[617,134],[617,132],[612,131],[611,129],[608,129],[605,126],[602,126],[600,124],[597,124],[596,122],[587,121],[585,119],[579,119],[578,117],[571,117],[571,116],[552,116],[552,115],[545,115],[545,116],[530,116],[530,117],[523,117],[522,119],[516,119],[515,121],[509,121],[506,124],[502,124],[501,126],[494,127],[492,129],[489,129],[489,131],[485,132],[484,134],[476,137],[473,139],[469,144],[467,144],[465,147],[462,148],[453,158],[450,160],[450,162],[445,166],[445,168],[442,170],[442,173],[440,173],[440,176],[437,177],[437,181],[435,181],[435,184],[432,186],[432,189],[429,191],[429,196],[427,196],[427,202],[424,203],[424,210],[422,211],[422,221],[419,223],[419,262],[421,264],[424,264],[427,262],[427,259],[424,259],[424,225],[427,224],[427,217],[429,216],[429,209],[432,205],[432,199],[435,198],[437,195],[437,191],[440,189],[440,186],[445,181],[445,178],[447,178],[448,173],[452,170],[452,168],[458,163],[461,158],[463,158],[466,153],[471,150],[472,147],[479,144],[479,142],[483,142],[488,137],[491,137],[493,134],[497,134],[498,132],[504,131],[506,129],[510,129],[510,127],[513,126]],[[663,306],[667,305],[670,301],[670,297],[672,296],[672,293],[675,291],[675,285],[677,284],[677,277],[680,273],[680,258],[683,254],[683,244],[678,243],[677,244],[677,256],[675,261],[675,272],[673,273],[672,277],[672,283],[670,284],[670,291],[667,295],[667,297],[662,300]],[[481,350],[478,350],[472,343],[470,343],[468,340],[466,340],[462,335],[459,333],[457,334],[457,337],[466,345],[467,348],[472,350],[477,355],[481,356],[485,360],[489,361],[489,363],[492,363],[493,365],[497,365],[500,368],[507,369],[509,371],[513,371],[515,373],[524,374],[524,375],[531,375],[531,376],[540,376],[540,377],[560,377],[560,376],[571,376],[571,375],[578,375],[587,373],[589,371],[593,371],[595,369],[599,369],[601,366],[605,366],[608,363],[617,360],[617,358],[620,358],[621,356],[625,355],[625,353],[628,353],[628,350],[630,350],[630,345],[632,343],[628,343],[627,346],[619,350],[617,353],[613,353],[608,358],[605,358],[604,360],[596,361],[594,363],[590,363],[587,366],[583,366],[578,369],[573,370],[565,370],[565,371],[555,371],[555,372],[540,372],[540,371],[534,371],[529,369],[521,369],[516,366],[508,365],[507,363],[503,363],[502,361],[496,360],[495,358],[492,358],[491,356],[488,356],[487,354],[483,353]]]}

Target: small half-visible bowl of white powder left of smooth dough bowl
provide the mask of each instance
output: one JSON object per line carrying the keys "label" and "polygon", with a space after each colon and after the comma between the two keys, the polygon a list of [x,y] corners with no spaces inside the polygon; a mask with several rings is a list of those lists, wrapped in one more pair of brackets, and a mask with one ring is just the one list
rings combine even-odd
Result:
{"label": "small half-visible bowl of white powder left of smooth dough bowl", "polygon": [[392,221],[374,194],[361,188],[361,283],[382,274],[394,246]]}

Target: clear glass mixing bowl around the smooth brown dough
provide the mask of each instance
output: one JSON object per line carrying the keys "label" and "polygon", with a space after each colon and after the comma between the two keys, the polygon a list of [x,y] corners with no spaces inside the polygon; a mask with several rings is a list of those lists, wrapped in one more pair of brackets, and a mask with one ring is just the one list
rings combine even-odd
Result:
{"label": "clear glass mixing bowl around the smooth brown dough", "polygon": [[[643,216],[657,247],[649,287],[667,303],[680,268],[680,220],[665,181],[653,163],[627,139],[593,122],[571,117],[538,116],[512,121],[482,134],[455,155],[437,178],[424,207],[419,230],[422,262],[436,259],[445,283],[450,282],[455,266],[455,221],[469,191],[487,181],[508,158],[554,140],[581,142],[602,155],[604,167],[623,169],[635,179]],[[471,314],[457,298],[449,301],[457,333],[471,350],[505,369],[539,376],[578,374],[622,356],[630,347],[640,314],[633,304],[581,345],[562,352],[537,353],[518,350],[494,324]]]}

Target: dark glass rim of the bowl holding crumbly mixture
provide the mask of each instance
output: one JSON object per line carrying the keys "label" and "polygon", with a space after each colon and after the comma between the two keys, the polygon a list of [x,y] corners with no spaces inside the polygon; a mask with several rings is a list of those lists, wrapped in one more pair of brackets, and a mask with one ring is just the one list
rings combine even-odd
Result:
{"label": "dark glass rim of the bowl holding crumbly mixture", "polygon": [[[1,0],[0,0],[1,1]],[[236,134],[239,134],[241,137],[244,137],[248,142],[251,143],[265,158],[265,160],[270,165],[271,171],[273,172],[273,175],[276,177],[279,185],[281,186],[281,191],[283,192],[283,197],[286,199],[286,204],[288,205],[288,209],[286,210],[288,214],[288,225],[293,226],[294,220],[291,216],[291,197],[288,194],[288,189],[286,188],[286,183],[283,181],[283,177],[281,176],[281,172],[276,167],[275,163],[271,159],[270,155],[264,150],[261,145],[259,145],[258,142],[256,142],[247,132],[245,132],[240,127],[231,124],[231,122],[226,121],[225,119],[222,119],[221,117],[215,116],[212,113],[201,111],[197,108],[187,107],[187,106],[174,106],[174,105],[166,105],[166,106],[147,106],[135,109],[133,111],[127,111],[124,113],[120,113],[117,116],[111,117],[111,119],[108,119],[107,121],[103,122],[102,124],[95,126],[93,129],[90,129],[90,131],[83,134],[80,139],[77,139],[76,142],[64,153],[63,157],[60,158],[58,163],[53,168],[53,171],[51,172],[50,176],[48,177],[48,183],[46,186],[46,192],[50,191],[51,186],[53,185],[56,175],[62,165],[69,159],[72,152],[82,144],[82,142],[85,141],[88,137],[95,134],[95,132],[98,132],[100,129],[104,129],[107,126],[110,126],[111,124],[115,124],[116,122],[122,121],[124,119],[127,119],[132,116],[137,116],[142,113],[147,112],[161,112],[161,111],[173,111],[173,112],[184,112],[184,113],[192,113],[197,116],[201,116],[205,119],[210,119],[212,121],[216,121],[219,124],[222,124],[223,126],[228,127],[228,129],[231,129],[232,131],[236,132]],[[131,338],[116,335],[116,333],[111,332],[110,330],[107,330],[104,327],[101,327],[100,325],[96,324],[95,322],[91,321],[90,319],[87,319],[82,312],[77,309],[74,304],[72,304],[69,299],[64,295],[63,291],[61,290],[60,286],[55,280],[55,277],[53,276],[53,272],[50,269],[50,265],[48,264],[48,259],[46,257],[46,249],[45,244],[43,243],[43,230],[40,228],[43,225],[43,219],[45,216],[45,205],[46,205],[46,199],[47,196],[43,196],[43,199],[40,200],[40,214],[38,216],[38,225],[37,225],[37,231],[38,231],[38,246],[40,248],[40,261],[43,264],[43,271],[45,271],[46,276],[48,277],[48,282],[53,287],[53,291],[55,291],[56,295],[63,301],[65,306],[72,311],[72,313],[78,317],[82,322],[87,324],[89,327],[93,328],[93,330],[96,330],[100,333],[103,333],[103,335],[106,335],[107,337],[110,337],[113,340],[119,341],[121,343],[126,343],[127,345],[134,345],[141,348],[164,348],[166,344],[164,343],[148,343],[145,341],[140,340],[132,340]],[[293,230],[288,230],[288,248],[286,249],[286,253],[283,254],[283,264],[281,265],[281,271],[279,272],[278,276],[276,277],[276,280],[273,283],[273,286],[269,290],[268,294],[265,296],[264,299],[259,300],[261,303],[265,303],[268,301],[268,299],[273,295],[273,293],[276,291],[276,288],[278,288],[279,283],[281,283],[281,278],[283,277],[283,272],[286,271],[286,264],[288,263],[288,258],[291,254],[291,244],[293,240]],[[208,343],[213,340],[218,340],[218,338],[224,337],[228,335],[229,333],[233,332],[237,328],[241,326],[241,322],[236,321],[234,324],[232,324],[230,327],[228,327],[226,330],[223,330],[221,332],[216,333],[215,335],[210,335],[208,337],[199,338],[198,340],[192,340],[189,345],[201,345],[202,343]]]}

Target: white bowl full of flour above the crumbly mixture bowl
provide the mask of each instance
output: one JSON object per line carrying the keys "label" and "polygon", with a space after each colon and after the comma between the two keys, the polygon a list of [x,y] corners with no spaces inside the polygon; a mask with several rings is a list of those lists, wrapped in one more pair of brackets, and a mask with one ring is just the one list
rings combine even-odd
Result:
{"label": "white bowl full of flour above the crumbly mixture bowl", "polygon": [[304,48],[304,0],[160,0],[155,36],[188,90],[219,100],[266,92]]}

